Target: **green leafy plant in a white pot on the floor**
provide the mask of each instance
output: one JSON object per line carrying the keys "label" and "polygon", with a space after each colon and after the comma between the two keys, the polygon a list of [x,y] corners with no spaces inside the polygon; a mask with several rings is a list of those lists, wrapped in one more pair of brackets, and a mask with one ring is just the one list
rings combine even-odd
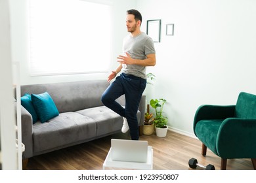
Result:
{"label": "green leafy plant in a white pot on the floor", "polygon": [[167,101],[165,99],[151,99],[150,106],[155,109],[156,116],[153,119],[153,123],[156,127],[156,135],[158,137],[165,137],[167,134],[167,122],[168,118],[163,115],[163,106]]}

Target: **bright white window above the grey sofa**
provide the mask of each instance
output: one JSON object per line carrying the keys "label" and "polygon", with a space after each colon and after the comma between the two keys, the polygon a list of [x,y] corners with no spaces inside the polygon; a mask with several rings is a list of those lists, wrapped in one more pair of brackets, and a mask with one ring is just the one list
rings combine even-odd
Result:
{"label": "bright white window above the grey sofa", "polygon": [[109,71],[112,19],[106,0],[30,0],[31,75]]}

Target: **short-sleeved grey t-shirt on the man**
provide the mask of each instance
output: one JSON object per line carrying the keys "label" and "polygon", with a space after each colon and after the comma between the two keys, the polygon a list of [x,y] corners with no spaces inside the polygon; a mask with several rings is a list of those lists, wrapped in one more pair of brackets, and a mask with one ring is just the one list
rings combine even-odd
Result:
{"label": "short-sleeved grey t-shirt on the man", "polygon": [[[144,32],[136,37],[127,35],[127,37],[123,39],[123,53],[125,54],[126,52],[133,59],[146,59],[148,54],[156,53],[153,40]],[[144,66],[123,64],[121,71],[127,75],[146,79],[146,67]]]}

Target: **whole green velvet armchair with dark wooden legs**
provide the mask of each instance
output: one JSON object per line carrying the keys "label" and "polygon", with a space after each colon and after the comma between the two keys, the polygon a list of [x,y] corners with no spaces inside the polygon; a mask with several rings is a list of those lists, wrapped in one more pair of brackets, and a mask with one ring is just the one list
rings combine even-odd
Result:
{"label": "whole green velvet armchair with dark wooden legs", "polygon": [[249,158],[256,169],[256,95],[241,92],[236,105],[202,105],[194,117],[194,134],[202,141],[202,155],[207,148],[221,158]]}

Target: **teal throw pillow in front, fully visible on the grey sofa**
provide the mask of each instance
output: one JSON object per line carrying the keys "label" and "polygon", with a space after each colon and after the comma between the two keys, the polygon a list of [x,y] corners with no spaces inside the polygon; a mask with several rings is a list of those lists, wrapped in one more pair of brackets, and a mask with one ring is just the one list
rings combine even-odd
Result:
{"label": "teal throw pillow in front, fully visible on the grey sofa", "polygon": [[32,94],[32,103],[37,112],[37,116],[42,123],[51,120],[51,118],[54,118],[59,114],[58,108],[48,92]]}

